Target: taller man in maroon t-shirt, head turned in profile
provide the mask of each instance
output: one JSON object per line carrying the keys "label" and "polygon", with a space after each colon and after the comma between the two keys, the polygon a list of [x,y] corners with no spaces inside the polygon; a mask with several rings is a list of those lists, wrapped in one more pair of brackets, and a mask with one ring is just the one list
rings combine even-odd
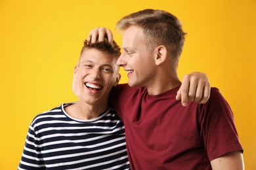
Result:
{"label": "taller man in maroon t-shirt, head turned in profile", "polygon": [[[127,71],[130,87],[114,88],[110,101],[125,124],[131,169],[244,169],[234,117],[219,90],[211,88],[203,105],[182,107],[175,99],[185,35],[179,20],[147,9],[123,17],[117,29],[123,31],[117,65]],[[106,32],[112,39],[102,28],[89,39]]]}

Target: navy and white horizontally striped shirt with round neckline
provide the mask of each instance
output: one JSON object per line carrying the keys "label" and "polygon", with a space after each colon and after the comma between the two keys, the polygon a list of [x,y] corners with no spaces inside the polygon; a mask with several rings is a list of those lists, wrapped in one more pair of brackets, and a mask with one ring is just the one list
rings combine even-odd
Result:
{"label": "navy and white horizontally striped shirt with round neckline", "polygon": [[18,169],[129,169],[125,128],[114,109],[77,120],[65,112],[68,105],[35,116]]}

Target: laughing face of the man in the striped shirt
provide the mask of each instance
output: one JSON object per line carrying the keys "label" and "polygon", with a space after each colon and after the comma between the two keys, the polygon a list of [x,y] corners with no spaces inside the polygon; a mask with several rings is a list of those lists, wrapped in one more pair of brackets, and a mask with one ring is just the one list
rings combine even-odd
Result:
{"label": "laughing face of the man in the striped shirt", "polygon": [[113,86],[119,82],[116,58],[110,54],[85,49],[75,66],[73,90],[79,101],[89,105],[106,105]]}

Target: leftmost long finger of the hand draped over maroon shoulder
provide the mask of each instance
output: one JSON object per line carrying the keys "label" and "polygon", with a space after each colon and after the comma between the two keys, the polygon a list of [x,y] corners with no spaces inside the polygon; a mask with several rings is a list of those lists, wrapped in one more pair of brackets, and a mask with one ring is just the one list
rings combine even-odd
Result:
{"label": "leftmost long finger of the hand draped over maroon shoulder", "polygon": [[181,84],[181,104],[182,106],[186,107],[188,105],[188,90],[190,86],[190,76],[185,75],[182,79],[182,84]]}

